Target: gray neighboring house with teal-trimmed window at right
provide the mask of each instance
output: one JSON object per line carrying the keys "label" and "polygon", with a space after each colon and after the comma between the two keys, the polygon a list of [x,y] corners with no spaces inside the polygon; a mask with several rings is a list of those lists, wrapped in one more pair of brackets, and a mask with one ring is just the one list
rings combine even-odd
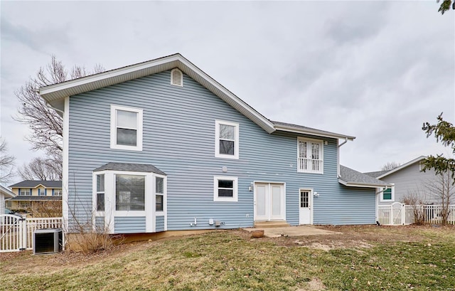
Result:
{"label": "gray neighboring house with teal-trimmed window at right", "polygon": [[[441,201],[434,192],[441,187],[441,177],[436,175],[434,170],[422,171],[422,161],[426,158],[418,157],[390,171],[365,173],[392,185],[387,189],[379,189],[378,204],[403,203],[407,197],[421,199],[424,203],[440,204]],[[452,187],[452,191],[454,190]]]}

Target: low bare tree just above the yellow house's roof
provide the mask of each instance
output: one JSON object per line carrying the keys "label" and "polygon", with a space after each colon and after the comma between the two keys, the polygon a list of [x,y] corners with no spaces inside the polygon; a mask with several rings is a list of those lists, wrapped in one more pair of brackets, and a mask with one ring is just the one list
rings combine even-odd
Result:
{"label": "low bare tree just above the yellow house's roof", "polygon": [[60,181],[62,179],[62,161],[37,157],[18,169],[18,175],[24,180]]}

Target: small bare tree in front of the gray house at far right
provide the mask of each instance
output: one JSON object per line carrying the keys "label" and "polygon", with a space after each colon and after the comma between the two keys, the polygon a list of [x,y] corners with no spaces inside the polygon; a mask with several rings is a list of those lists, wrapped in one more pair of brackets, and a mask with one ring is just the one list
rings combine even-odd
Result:
{"label": "small bare tree in front of the gray house at far right", "polygon": [[444,171],[437,174],[437,180],[430,183],[429,191],[441,204],[441,223],[446,225],[450,214],[450,203],[455,199],[455,184],[451,171]]}

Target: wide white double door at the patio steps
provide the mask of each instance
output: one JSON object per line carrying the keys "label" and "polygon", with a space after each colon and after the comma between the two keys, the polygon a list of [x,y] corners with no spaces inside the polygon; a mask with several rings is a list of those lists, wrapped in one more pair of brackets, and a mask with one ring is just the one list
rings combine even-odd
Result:
{"label": "wide white double door at the patio steps", "polygon": [[255,221],[284,220],[284,184],[255,183]]}

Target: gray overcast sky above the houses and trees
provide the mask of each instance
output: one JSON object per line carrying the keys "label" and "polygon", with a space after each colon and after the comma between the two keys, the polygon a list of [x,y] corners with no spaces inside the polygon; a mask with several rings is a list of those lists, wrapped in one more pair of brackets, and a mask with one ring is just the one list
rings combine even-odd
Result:
{"label": "gray overcast sky above the houses and trees", "polygon": [[436,0],[0,5],[0,133],[18,166],[41,153],[14,91],[53,54],[110,70],[181,53],[270,120],[357,137],[341,164],[358,171],[450,154],[422,131],[455,120],[455,14]]}

